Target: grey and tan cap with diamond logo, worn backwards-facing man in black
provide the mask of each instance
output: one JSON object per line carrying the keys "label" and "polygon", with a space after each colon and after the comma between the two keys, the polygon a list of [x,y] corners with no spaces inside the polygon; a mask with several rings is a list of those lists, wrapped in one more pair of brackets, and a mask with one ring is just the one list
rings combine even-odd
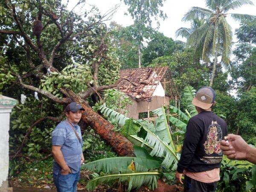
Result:
{"label": "grey and tan cap with diamond logo, worn backwards-facing man in black", "polygon": [[192,104],[206,110],[212,107],[215,98],[216,93],[212,87],[202,87],[196,92]]}

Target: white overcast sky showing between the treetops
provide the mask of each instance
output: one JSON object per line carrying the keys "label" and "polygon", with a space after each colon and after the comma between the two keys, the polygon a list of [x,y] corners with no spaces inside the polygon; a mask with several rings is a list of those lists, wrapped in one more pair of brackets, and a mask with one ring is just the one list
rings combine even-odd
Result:
{"label": "white overcast sky showing between the treetops", "polygon": [[[254,4],[256,4],[256,0],[252,0]],[[72,9],[72,6],[75,5],[77,0],[70,0],[69,8]],[[83,9],[88,9],[90,6],[89,4],[95,5],[99,8],[99,11],[103,14],[107,12],[109,9],[113,8],[116,4],[120,3],[120,7],[113,15],[112,20],[116,21],[117,23],[121,24],[122,26],[128,26],[133,24],[133,20],[131,16],[124,15],[127,12],[127,6],[120,2],[120,0],[86,0],[86,6],[81,9],[78,7],[76,9],[78,12],[81,12]],[[181,19],[183,15],[192,7],[192,6],[199,6],[205,7],[204,0],[166,0],[163,3],[163,7],[160,9],[163,10],[164,13],[167,14],[166,20],[160,20],[160,28],[159,31],[162,32],[167,37],[173,38],[174,40],[183,40],[180,37],[175,37],[175,31],[180,27],[189,27],[189,22],[182,22]],[[80,10],[79,10],[80,9]],[[242,6],[239,9],[231,10],[230,13],[241,13],[241,14],[250,14],[256,15],[256,6]],[[236,22],[230,17],[227,17],[228,22],[230,23],[233,33],[236,28],[239,28],[239,22]],[[108,24],[110,22],[107,22]],[[236,41],[234,36],[234,41]]]}

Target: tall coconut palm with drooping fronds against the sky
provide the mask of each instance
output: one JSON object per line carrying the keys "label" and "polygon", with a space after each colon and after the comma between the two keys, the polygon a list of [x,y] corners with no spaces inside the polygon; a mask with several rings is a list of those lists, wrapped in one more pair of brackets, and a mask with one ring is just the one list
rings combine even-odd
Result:
{"label": "tall coconut palm with drooping fronds against the sky", "polygon": [[256,20],[256,16],[247,14],[229,13],[230,10],[239,8],[243,5],[253,5],[250,0],[205,0],[208,9],[192,7],[183,17],[183,21],[194,21],[204,19],[205,23],[197,28],[179,29],[177,34],[187,37],[187,44],[196,49],[202,48],[202,59],[209,61],[209,56],[214,57],[212,76],[209,86],[212,86],[215,76],[217,58],[221,56],[221,62],[229,67],[232,29],[227,22],[230,15],[237,21]]}

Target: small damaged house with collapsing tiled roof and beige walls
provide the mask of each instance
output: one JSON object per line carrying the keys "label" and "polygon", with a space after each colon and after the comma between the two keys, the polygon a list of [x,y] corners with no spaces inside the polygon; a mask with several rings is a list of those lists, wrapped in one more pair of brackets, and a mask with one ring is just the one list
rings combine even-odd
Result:
{"label": "small damaged house with collapsing tiled roof and beige walls", "polygon": [[169,67],[143,67],[120,70],[117,88],[133,99],[128,106],[128,117],[139,119],[140,113],[147,113],[162,105],[169,105],[171,99],[177,101],[179,94]]}

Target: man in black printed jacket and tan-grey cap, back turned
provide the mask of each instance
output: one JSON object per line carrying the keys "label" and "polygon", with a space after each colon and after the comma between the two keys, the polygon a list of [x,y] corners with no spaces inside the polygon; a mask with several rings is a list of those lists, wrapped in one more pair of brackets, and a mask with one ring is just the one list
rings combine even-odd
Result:
{"label": "man in black printed jacket and tan-grey cap, back turned", "polygon": [[211,87],[199,89],[192,101],[198,115],[189,119],[176,180],[184,192],[215,192],[220,180],[221,140],[227,135],[226,122],[212,112],[216,93]]}

